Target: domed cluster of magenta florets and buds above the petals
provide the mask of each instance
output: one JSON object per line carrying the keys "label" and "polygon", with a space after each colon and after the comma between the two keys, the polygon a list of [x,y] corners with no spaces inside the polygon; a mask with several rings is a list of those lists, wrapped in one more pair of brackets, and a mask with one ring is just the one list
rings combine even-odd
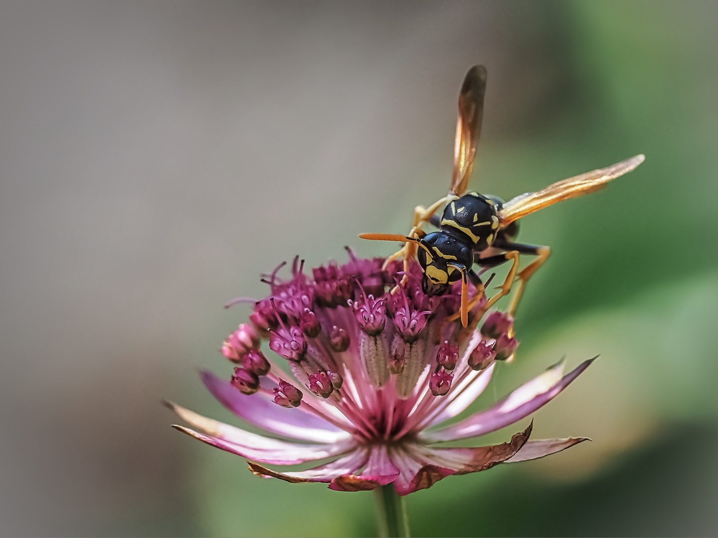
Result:
{"label": "domed cluster of magenta florets and buds above the petals", "polygon": [[[421,290],[418,264],[412,263],[406,274],[399,262],[383,269],[383,259],[360,260],[348,251],[349,263],[314,268],[311,279],[298,259],[289,280],[278,276],[284,264],[265,275],[271,294],[255,301],[250,323],[241,324],[222,346],[224,356],[237,364],[231,378],[237,390],[253,395],[261,390],[261,378],[269,377],[267,387],[282,407],[301,405],[302,385],[317,397],[326,400],[335,395],[337,405],[351,407],[349,393],[341,390],[343,375],[349,374],[355,390],[362,385],[381,389],[393,381],[399,400],[409,398],[419,382],[434,397],[449,392],[460,346],[465,348],[471,335],[460,322],[447,320],[460,307],[459,285],[444,296],[427,296]],[[473,314],[483,302],[485,298]],[[511,332],[512,318],[498,312],[488,316],[482,327],[484,339],[468,366],[485,369],[508,358],[517,344],[508,336]],[[272,372],[260,351],[261,338],[269,339],[269,349],[286,359],[299,387]],[[431,363],[427,353],[435,364],[422,377]],[[398,428],[400,421],[395,420]]]}

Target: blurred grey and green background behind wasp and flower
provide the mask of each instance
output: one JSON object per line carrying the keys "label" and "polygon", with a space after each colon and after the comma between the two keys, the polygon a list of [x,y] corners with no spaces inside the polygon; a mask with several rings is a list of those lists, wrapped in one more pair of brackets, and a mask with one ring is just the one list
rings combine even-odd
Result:
{"label": "blurred grey and green background behind wasp and flower", "polygon": [[[488,67],[472,188],[510,198],[635,154],[522,221],[551,245],[488,405],[601,358],[534,415],[585,435],[408,498],[415,536],[718,534],[715,2],[0,3],[0,534],[365,536],[370,493],[252,476],[169,428],[232,421],[234,296],[344,260],[447,189]],[[500,441],[510,432],[493,435]]]}

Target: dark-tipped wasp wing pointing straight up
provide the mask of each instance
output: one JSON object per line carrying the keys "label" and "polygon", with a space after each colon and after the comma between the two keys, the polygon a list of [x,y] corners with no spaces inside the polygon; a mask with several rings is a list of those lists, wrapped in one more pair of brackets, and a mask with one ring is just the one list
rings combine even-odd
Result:
{"label": "dark-tipped wasp wing pointing straight up", "polygon": [[459,93],[459,119],[454,142],[454,170],[449,194],[462,196],[469,185],[476,156],[476,145],[481,136],[486,93],[486,67],[475,65],[467,72]]}

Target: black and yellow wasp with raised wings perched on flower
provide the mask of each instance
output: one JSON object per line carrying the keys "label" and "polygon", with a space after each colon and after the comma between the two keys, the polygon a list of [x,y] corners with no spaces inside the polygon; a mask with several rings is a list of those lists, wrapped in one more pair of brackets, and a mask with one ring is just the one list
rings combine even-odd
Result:
{"label": "black and yellow wasp with raised wings perched on flower", "polygon": [[[459,118],[454,142],[454,169],[449,193],[427,208],[414,209],[414,221],[409,235],[365,233],[359,237],[369,240],[404,242],[384,263],[404,258],[404,271],[408,273],[409,261],[416,258],[423,273],[421,285],[428,295],[442,295],[449,285],[461,280],[461,308],[449,320],[461,317],[463,326],[468,324],[469,311],[485,295],[482,280],[473,270],[478,265],[480,273],[502,263],[511,262],[498,293],[488,298],[482,313],[503,296],[510,293],[515,280],[516,292],[508,306],[513,315],[528,279],[549,258],[551,250],[545,245],[528,245],[516,242],[518,220],[556,202],[596,192],[607,186],[608,181],[623,176],[643,162],[645,156],[637,155],[625,161],[592,170],[579,176],[558,181],[538,192],[527,192],[504,202],[500,197],[470,192],[469,179],[474,166],[477,143],[481,135],[481,123],[486,93],[486,68],[472,67],[464,79],[459,93]],[[444,206],[442,216],[437,212]],[[429,222],[439,228],[426,234],[424,224]],[[520,255],[534,255],[536,260],[518,271]],[[518,273],[518,274],[517,274]],[[406,283],[406,274],[401,284]],[[476,288],[473,298],[468,297],[468,282]],[[394,288],[396,291],[398,288]]]}

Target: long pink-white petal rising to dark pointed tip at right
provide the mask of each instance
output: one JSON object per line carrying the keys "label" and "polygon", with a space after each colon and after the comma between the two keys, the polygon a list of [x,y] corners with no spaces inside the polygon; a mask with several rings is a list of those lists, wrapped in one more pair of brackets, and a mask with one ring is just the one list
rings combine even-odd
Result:
{"label": "long pink-white petal rising to dark pointed tip at right", "polygon": [[539,407],[553,400],[594,360],[589,359],[583,362],[573,372],[554,382],[557,377],[556,374],[560,376],[559,369],[562,365],[559,364],[519,387],[488,410],[477,412],[465,420],[437,432],[422,433],[420,437],[429,443],[435,443],[476,437],[477,435],[485,435],[486,433],[500,430],[530,415]]}

